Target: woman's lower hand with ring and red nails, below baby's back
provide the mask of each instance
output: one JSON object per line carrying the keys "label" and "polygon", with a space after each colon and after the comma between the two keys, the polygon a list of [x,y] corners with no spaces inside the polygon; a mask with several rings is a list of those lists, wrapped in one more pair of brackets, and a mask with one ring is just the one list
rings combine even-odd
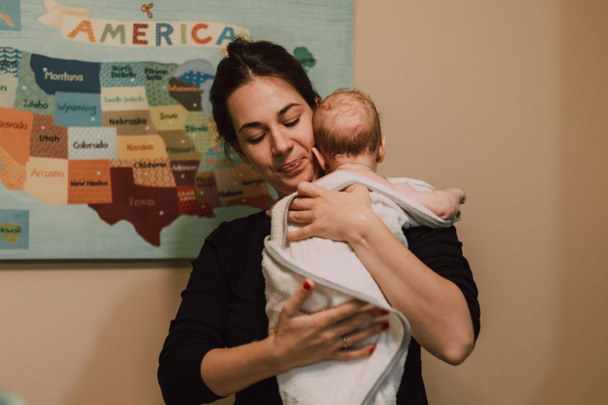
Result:
{"label": "woman's lower hand with ring and red nails, below baby's back", "polygon": [[[306,279],[283,305],[277,325],[269,336],[284,369],[328,359],[352,360],[370,356],[375,345],[358,345],[389,328],[388,322],[379,319],[389,312],[352,300],[317,313],[303,313],[302,305],[313,290],[314,282]],[[344,347],[345,340],[348,349]]]}

